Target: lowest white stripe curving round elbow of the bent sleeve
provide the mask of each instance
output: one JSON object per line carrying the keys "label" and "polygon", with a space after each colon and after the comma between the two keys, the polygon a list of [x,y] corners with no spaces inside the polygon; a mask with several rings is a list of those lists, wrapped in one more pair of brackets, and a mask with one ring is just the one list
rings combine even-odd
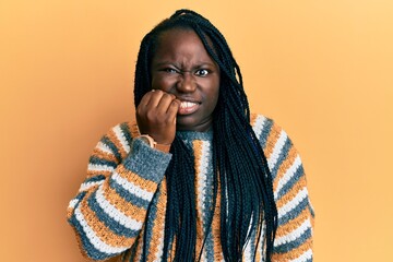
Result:
{"label": "lowest white stripe curving round elbow of the bent sleeve", "polygon": [[120,253],[129,248],[129,247],[126,247],[126,248],[111,247],[111,246],[107,245],[106,242],[102,241],[99,239],[99,237],[97,236],[97,234],[87,225],[86,219],[83,216],[80,209],[81,209],[81,205],[79,205],[75,209],[75,217],[79,221],[79,223],[81,224],[83,231],[86,234],[88,241],[94,246],[95,249],[97,249],[98,251],[100,251],[103,253],[115,254],[115,253]]}

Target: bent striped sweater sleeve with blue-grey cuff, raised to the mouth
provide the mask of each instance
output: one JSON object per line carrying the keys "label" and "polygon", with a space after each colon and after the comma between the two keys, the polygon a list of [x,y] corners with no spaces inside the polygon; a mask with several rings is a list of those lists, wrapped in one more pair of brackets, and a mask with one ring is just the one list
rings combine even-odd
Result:
{"label": "bent striped sweater sleeve with blue-grey cuff, raised to the mouth", "polygon": [[103,136],[68,207],[68,222],[91,260],[105,260],[132,247],[171,158],[132,139],[131,129],[129,123],[118,124]]}

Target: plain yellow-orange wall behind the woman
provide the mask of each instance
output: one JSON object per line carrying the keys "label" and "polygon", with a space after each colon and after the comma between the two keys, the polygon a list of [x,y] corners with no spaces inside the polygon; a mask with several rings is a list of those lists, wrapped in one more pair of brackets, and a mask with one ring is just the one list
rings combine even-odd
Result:
{"label": "plain yellow-orange wall behind the woman", "polygon": [[315,261],[393,261],[391,0],[0,0],[0,260],[83,261],[68,201],[133,117],[143,35],[179,8],[224,33],[252,110],[300,151]]}

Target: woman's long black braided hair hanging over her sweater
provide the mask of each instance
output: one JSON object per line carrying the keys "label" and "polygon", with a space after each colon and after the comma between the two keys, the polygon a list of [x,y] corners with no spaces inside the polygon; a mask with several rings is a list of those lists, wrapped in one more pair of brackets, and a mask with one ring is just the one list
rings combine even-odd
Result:
{"label": "woman's long black braided hair hanging over her sweater", "polygon": [[[266,157],[250,124],[250,109],[240,68],[219,31],[202,15],[178,10],[155,26],[142,40],[135,69],[134,104],[151,91],[151,64],[159,36],[174,28],[196,33],[221,70],[219,95],[213,116],[213,206],[221,194],[221,243],[225,261],[241,261],[252,234],[261,237],[265,224],[266,261],[271,261],[277,229],[277,209]],[[196,207],[192,153],[176,135],[166,170],[167,209],[163,261],[195,261]],[[218,188],[221,190],[218,190]],[[214,210],[209,214],[212,226]],[[144,229],[146,230],[146,228]],[[147,234],[144,234],[146,236]],[[143,247],[146,247],[146,237]],[[255,248],[257,252],[257,248]],[[143,248],[142,259],[147,251]],[[255,254],[254,254],[255,258]]]}

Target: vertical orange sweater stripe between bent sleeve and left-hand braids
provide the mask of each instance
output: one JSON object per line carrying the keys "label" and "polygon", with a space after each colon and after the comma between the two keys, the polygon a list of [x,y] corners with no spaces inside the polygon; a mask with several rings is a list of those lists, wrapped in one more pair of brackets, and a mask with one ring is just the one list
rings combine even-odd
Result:
{"label": "vertical orange sweater stripe between bent sleeve and left-hand braids", "polygon": [[147,255],[147,261],[154,261],[157,258],[159,242],[164,241],[164,226],[165,226],[165,212],[167,204],[167,189],[166,189],[166,179],[164,178],[163,182],[159,186],[159,198],[157,203],[156,217],[154,219],[154,226],[152,229],[152,239],[150,243],[150,250]]}

